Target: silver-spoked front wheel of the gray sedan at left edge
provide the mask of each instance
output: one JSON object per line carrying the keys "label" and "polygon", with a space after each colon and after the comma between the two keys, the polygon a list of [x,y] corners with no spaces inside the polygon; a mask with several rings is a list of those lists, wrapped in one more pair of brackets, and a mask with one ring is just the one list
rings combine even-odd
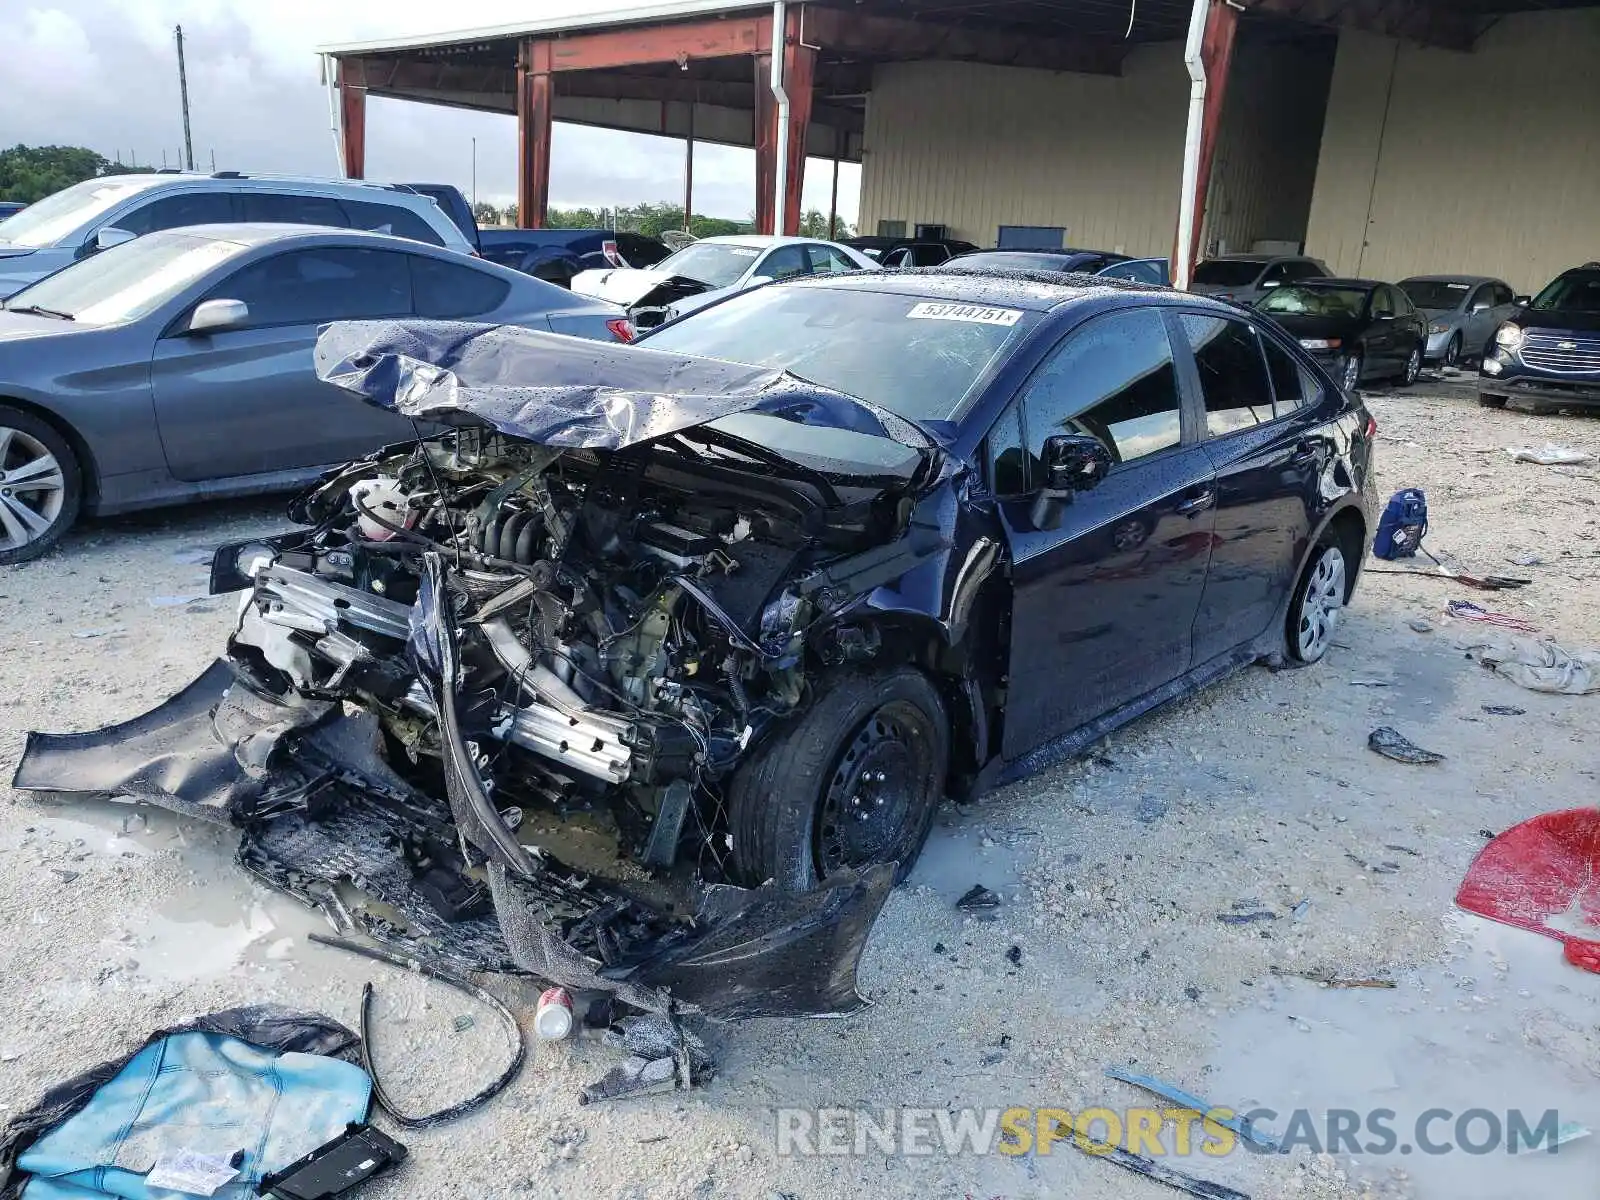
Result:
{"label": "silver-spoked front wheel of the gray sedan at left edge", "polygon": [[50,550],[78,518],[83,477],[61,432],[0,405],[0,566]]}

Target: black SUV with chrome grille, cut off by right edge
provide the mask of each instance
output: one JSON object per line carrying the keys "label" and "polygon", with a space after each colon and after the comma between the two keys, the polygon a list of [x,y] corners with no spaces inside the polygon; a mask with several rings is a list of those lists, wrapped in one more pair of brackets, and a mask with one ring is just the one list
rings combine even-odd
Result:
{"label": "black SUV with chrome grille, cut off by right edge", "polygon": [[1531,400],[1534,413],[1600,406],[1600,262],[1558,275],[1494,334],[1478,403]]}

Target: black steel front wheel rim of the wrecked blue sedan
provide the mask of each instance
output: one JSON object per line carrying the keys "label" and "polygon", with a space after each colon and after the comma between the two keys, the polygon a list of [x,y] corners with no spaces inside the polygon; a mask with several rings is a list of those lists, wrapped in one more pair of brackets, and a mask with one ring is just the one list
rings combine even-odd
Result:
{"label": "black steel front wheel rim of the wrecked blue sedan", "polygon": [[885,704],[840,752],[818,811],[822,875],[907,853],[914,818],[926,803],[926,770],[917,754],[926,744],[915,730],[920,717],[910,706]]}

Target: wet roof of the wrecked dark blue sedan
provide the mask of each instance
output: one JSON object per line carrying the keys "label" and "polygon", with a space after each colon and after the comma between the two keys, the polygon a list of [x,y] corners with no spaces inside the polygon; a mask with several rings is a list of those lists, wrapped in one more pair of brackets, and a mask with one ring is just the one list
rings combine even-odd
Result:
{"label": "wet roof of the wrecked dark blue sedan", "polygon": [[[992,307],[1022,309],[1026,312],[1050,312],[1062,304],[1104,296],[1107,291],[1144,293],[1152,298],[1171,298],[1173,294],[1170,288],[1098,275],[1067,275],[1054,270],[1003,270],[992,267],[957,270],[949,266],[851,275],[808,275],[786,280],[778,286],[880,291],[893,296],[986,304]],[[1203,296],[1184,296],[1184,299],[1219,310],[1227,309],[1227,306],[1206,301]]]}

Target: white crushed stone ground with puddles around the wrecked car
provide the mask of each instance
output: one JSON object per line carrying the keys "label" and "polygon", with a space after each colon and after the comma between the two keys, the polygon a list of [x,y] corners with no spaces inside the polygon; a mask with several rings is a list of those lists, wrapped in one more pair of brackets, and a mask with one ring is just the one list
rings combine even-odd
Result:
{"label": "white crushed stone ground with puddles around the wrecked car", "polygon": [[[1066,1142],[1024,1157],[778,1155],[779,1107],[1165,1106],[1104,1078],[1109,1064],[1274,1109],[1280,1133],[1294,1109],[1318,1122],[1389,1109],[1403,1144],[1429,1109],[1523,1109],[1531,1122],[1558,1109],[1600,1130],[1600,976],[1565,965],[1555,941],[1451,904],[1483,830],[1595,803],[1600,696],[1493,675],[1459,650],[1478,630],[1442,616],[1448,600],[1474,600],[1570,648],[1600,645],[1600,467],[1502,453],[1558,442],[1600,456],[1600,419],[1480,410],[1469,387],[1437,378],[1370,405],[1381,494],[1424,488],[1429,547],[1531,587],[1368,574],[1320,667],[1251,669],[1123,730],[1093,762],[947,810],[874,930],[861,986],[875,1006],[714,1029],[720,1070],[702,1090],[579,1107],[614,1051],[536,1043],[534,992],[490,976],[530,1029],[526,1067],[475,1115],[400,1131],[410,1160],[362,1195],[1178,1195]],[[197,675],[234,605],[170,600],[205,590],[198,550],[274,531],[280,510],[274,499],[94,523],[43,562],[0,570],[3,778],[24,731],[125,720]],[[1526,555],[1542,565],[1509,562]],[[1432,629],[1413,629],[1419,619]],[[1445,762],[1373,754],[1379,725]],[[229,834],[109,803],[0,798],[0,1117],[197,1013],[270,1000],[355,1027],[366,979],[379,1067],[413,1110],[499,1070],[486,1010],[307,942],[322,920],[235,869]],[[973,883],[1002,894],[992,920],[954,907]],[[1272,918],[1218,920],[1250,912]],[[1320,973],[1395,987],[1301,978]],[[464,1013],[475,1021],[456,1032]],[[1453,1131],[1453,1118],[1432,1126],[1435,1141]],[[1594,1195],[1600,1136],[1554,1157],[1299,1147],[1168,1162],[1258,1200],[1578,1200]]]}

